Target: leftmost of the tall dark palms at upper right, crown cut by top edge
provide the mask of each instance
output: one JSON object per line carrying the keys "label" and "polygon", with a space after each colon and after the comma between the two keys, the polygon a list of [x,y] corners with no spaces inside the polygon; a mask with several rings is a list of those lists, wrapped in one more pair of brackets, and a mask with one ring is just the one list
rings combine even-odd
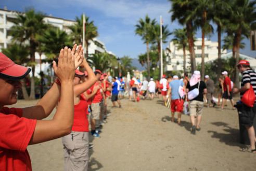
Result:
{"label": "leftmost of the tall dark palms at upper right, crown cut by top edge", "polygon": [[172,2],[172,7],[169,12],[172,12],[171,20],[177,20],[178,23],[186,24],[188,47],[190,53],[191,72],[196,70],[196,54],[194,49],[194,20],[195,16],[191,15],[197,5],[194,1],[187,0],[169,0]]}

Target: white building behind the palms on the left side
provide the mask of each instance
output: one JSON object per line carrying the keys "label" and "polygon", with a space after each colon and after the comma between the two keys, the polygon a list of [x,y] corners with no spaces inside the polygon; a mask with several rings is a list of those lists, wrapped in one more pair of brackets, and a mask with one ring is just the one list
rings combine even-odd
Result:
{"label": "white building behind the palms on the left side", "polygon": [[[16,19],[17,11],[10,11],[5,9],[0,9],[0,51],[1,48],[7,48],[8,45],[11,44],[11,36],[8,36],[8,31],[11,26],[14,25],[12,22]],[[21,13],[21,12],[19,12]],[[71,30],[68,28],[69,26],[75,24],[75,21],[65,20],[62,18],[47,16],[44,18],[45,23],[50,24],[54,27],[59,28],[60,30],[66,31],[68,34],[71,33]],[[88,53],[100,53],[107,52],[114,55],[112,52],[108,52],[104,42],[100,41],[97,38],[93,39],[94,41],[89,40]],[[42,54],[41,59],[46,59],[46,56]],[[35,76],[39,76],[40,73],[40,55],[39,53],[35,53],[35,62],[37,63],[35,67]],[[42,71],[47,74],[47,70],[50,69],[50,65],[48,63],[43,63],[41,65]]]}

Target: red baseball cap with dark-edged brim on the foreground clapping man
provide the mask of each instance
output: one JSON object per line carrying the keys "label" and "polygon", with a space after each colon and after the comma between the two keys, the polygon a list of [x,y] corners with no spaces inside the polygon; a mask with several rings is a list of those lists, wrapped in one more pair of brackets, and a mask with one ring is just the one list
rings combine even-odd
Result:
{"label": "red baseball cap with dark-edged brim on the foreground clapping man", "polygon": [[9,80],[20,80],[25,78],[30,71],[31,68],[15,64],[4,53],[0,52],[0,77]]}

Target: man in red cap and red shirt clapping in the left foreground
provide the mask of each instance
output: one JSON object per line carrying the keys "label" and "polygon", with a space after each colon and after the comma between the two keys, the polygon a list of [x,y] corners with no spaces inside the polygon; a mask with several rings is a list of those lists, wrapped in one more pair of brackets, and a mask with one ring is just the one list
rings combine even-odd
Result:
{"label": "man in red cap and red shirt clapping in the left foreground", "polygon": [[[83,61],[83,48],[75,52],[65,47],[60,50],[58,66],[53,62],[58,79],[35,106],[9,108],[17,102],[20,80],[30,68],[17,65],[0,53],[0,168],[1,170],[32,170],[28,145],[60,138],[71,133],[74,118],[73,78],[75,68]],[[74,55],[73,55],[74,54]],[[52,120],[50,115],[60,98]]]}

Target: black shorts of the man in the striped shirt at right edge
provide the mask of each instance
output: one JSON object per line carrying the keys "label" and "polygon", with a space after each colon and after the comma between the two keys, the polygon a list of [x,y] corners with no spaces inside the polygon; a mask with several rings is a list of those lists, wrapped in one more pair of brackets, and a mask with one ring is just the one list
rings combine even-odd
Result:
{"label": "black shorts of the man in the striped shirt at right edge", "polygon": [[248,107],[245,104],[242,104],[241,108],[241,125],[244,126],[253,126],[253,120],[256,112],[256,104],[253,107]]}

